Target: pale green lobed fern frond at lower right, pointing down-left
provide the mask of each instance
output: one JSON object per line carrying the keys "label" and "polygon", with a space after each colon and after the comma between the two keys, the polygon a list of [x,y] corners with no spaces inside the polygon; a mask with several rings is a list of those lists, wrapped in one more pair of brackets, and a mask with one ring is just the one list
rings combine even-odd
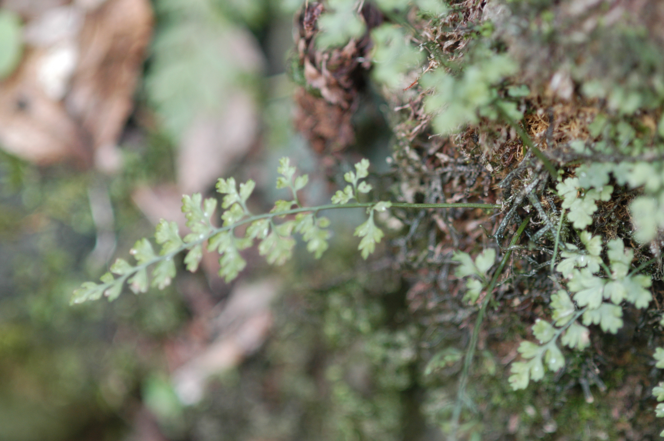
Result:
{"label": "pale green lobed fern frond at lower right, pointing down-left", "polygon": [[[600,181],[597,185],[604,183]],[[578,181],[562,183],[558,191],[562,197],[576,195],[577,186]],[[562,345],[581,351],[590,345],[590,330],[587,326],[600,325],[602,331],[616,333],[623,326],[622,302],[631,303],[636,308],[646,308],[652,299],[650,292],[645,289],[650,286],[651,279],[643,274],[629,274],[634,252],[625,250],[622,239],[610,240],[606,244],[609,266],[605,267],[601,257],[600,236],[582,231],[579,237],[586,248],[585,252],[573,244],[566,244],[567,251],[560,253],[563,259],[556,266],[556,270],[568,279],[567,289],[574,296],[570,298],[566,290],[558,290],[553,294],[550,303],[553,323],[538,319],[533,325],[533,335],[540,345],[530,341],[521,343],[519,352],[523,359],[529,361],[512,364],[509,381],[515,390],[525,389],[531,380],[542,379],[544,365],[552,371],[564,366],[562,352],[556,345],[558,337]],[[604,274],[604,277],[598,276],[602,268],[610,269],[610,273]],[[574,302],[580,309],[576,308]],[[583,325],[576,321],[579,317],[582,317]],[[664,351],[661,357],[664,359]]]}

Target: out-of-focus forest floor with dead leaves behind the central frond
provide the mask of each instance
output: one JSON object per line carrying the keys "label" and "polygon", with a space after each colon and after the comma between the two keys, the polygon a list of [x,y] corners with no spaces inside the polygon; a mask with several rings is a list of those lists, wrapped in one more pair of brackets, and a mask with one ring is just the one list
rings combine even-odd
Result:
{"label": "out-of-focus forest floor with dead leaves behind the central frond", "polygon": [[[291,128],[286,66],[299,3],[0,2],[1,441],[391,440],[434,430],[420,414],[400,278],[359,264],[351,239],[276,275],[249,256],[233,286],[207,259],[163,292],[69,306],[82,281],[151,236],[160,217],[179,219],[181,195],[210,193],[217,177],[255,179],[251,202],[270,209],[288,155],[311,173],[307,201],[329,200],[317,157]],[[134,35],[122,23],[136,11],[147,15]],[[123,36],[147,48],[129,74],[126,49],[102,44]],[[94,44],[106,58],[85,64]],[[44,79],[47,64],[55,73]],[[125,74],[135,87],[118,80]],[[104,108],[123,100],[125,114]],[[42,104],[48,121],[31,113]],[[358,112],[358,137],[384,167],[389,133],[377,109]],[[92,139],[87,159],[58,151],[65,123]],[[15,127],[27,128],[21,139],[44,135],[41,150],[14,145]],[[337,220],[341,230],[353,223]],[[260,291],[266,277],[280,290]],[[235,292],[254,300],[237,306]],[[252,329],[262,331],[242,346]],[[203,369],[201,357],[214,362]]]}

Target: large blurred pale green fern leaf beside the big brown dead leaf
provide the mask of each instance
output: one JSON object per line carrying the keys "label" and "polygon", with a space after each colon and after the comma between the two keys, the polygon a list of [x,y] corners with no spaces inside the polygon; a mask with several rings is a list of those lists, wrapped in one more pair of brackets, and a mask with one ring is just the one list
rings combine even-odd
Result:
{"label": "large blurred pale green fern leaf beside the big brown dead leaf", "polygon": [[179,138],[196,118],[228,108],[261,66],[258,58],[237,56],[238,45],[252,45],[252,37],[224,17],[216,1],[158,0],[155,7],[161,25],[145,91],[164,127]]}

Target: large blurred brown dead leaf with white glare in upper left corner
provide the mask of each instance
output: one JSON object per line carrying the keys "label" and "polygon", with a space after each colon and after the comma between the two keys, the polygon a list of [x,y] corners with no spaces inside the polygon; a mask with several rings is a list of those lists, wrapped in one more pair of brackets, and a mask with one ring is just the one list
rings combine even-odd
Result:
{"label": "large blurred brown dead leaf with white glare in upper left corner", "polygon": [[39,165],[73,159],[117,169],[115,145],[131,112],[152,29],[149,0],[19,1],[21,65],[0,82],[0,143]]}

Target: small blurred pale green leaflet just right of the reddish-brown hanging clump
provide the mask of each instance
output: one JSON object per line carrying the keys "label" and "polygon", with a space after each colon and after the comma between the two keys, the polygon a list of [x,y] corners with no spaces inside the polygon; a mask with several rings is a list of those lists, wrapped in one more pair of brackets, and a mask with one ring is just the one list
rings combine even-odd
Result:
{"label": "small blurred pale green leaflet just right of the reddish-brown hanging clump", "polygon": [[410,37],[406,37],[401,27],[386,23],[373,29],[371,37],[374,42],[371,52],[374,79],[390,88],[399,86],[402,74],[424,59],[424,52],[410,44]]}

